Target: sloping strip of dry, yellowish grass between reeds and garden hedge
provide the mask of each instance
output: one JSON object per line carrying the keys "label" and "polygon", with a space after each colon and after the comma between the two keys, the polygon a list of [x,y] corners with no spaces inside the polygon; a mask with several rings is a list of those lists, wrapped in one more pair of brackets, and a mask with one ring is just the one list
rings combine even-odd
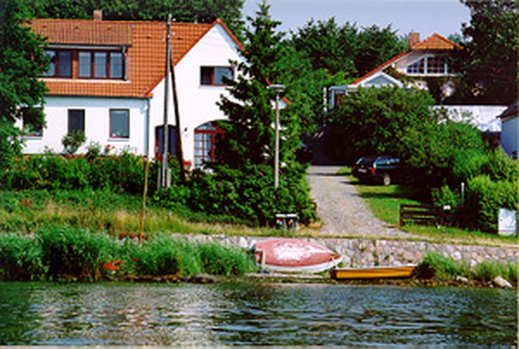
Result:
{"label": "sloping strip of dry, yellowish grass between reeds and garden hedge", "polygon": [[[116,236],[139,232],[142,198],[109,190],[0,191],[0,231],[34,233],[48,224],[105,231]],[[167,210],[148,200],[144,233],[154,232],[279,235],[286,232],[250,227],[229,216]]]}

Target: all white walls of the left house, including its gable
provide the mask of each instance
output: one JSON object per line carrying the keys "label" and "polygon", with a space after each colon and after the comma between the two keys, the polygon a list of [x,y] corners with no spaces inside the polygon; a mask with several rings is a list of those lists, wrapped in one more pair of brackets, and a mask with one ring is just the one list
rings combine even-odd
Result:
{"label": "all white walls of the left house, including its gable", "polygon": [[[228,94],[223,86],[201,86],[201,66],[229,66],[229,60],[242,61],[240,48],[227,34],[222,25],[216,24],[175,66],[177,96],[181,117],[181,132],[184,159],[194,162],[194,130],[199,125],[225,119],[216,105],[221,94]],[[236,75],[236,72],[235,72]],[[169,123],[175,125],[172,88],[169,89]],[[152,91],[150,100],[149,152],[155,155],[155,127],[163,124],[164,80]],[[24,153],[42,153],[45,147],[54,152],[62,152],[61,139],[67,133],[68,110],[85,109],[85,146],[78,152],[86,151],[90,142],[102,146],[112,145],[117,150],[130,147],[134,153],[146,153],[146,99],[46,96],[45,114],[47,126],[42,137],[25,137]],[[115,139],[109,137],[110,109],[130,110],[130,137]],[[18,127],[22,127],[21,122]]]}

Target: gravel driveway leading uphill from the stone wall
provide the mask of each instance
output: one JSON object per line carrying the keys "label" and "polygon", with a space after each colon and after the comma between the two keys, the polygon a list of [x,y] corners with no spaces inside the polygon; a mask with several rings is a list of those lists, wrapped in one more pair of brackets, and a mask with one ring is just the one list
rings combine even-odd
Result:
{"label": "gravel driveway leading uphill from the stone wall", "polygon": [[307,170],[310,193],[317,202],[317,214],[324,224],[322,234],[413,236],[375,218],[349,179],[335,175],[339,169],[340,166],[312,165]]}

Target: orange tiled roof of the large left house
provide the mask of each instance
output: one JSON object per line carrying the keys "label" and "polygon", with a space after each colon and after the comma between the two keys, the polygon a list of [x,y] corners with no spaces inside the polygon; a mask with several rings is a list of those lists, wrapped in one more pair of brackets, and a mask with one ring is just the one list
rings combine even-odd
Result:
{"label": "orange tiled roof of the large left house", "polygon": [[[220,20],[212,24],[173,23],[171,47],[174,64],[216,23],[225,27]],[[43,78],[49,95],[145,97],[164,77],[166,23],[35,19],[31,27],[54,45],[129,45],[127,80]]]}

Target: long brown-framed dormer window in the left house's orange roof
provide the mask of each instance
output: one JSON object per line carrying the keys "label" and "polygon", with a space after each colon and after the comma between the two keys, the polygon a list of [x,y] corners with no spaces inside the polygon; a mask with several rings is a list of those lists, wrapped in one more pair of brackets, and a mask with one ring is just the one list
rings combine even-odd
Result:
{"label": "long brown-framed dormer window in the left house's orange roof", "polygon": [[125,59],[120,51],[112,50],[45,50],[50,58],[46,77],[73,79],[122,79]]}

